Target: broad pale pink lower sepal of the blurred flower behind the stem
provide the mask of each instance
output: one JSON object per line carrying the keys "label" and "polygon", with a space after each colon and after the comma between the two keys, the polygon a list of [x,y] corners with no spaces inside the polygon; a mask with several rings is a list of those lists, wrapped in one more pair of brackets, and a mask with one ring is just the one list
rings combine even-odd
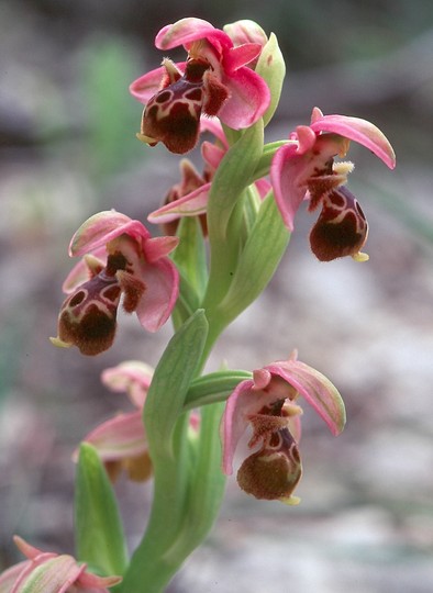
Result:
{"label": "broad pale pink lower sepal of the blurred flower behind the stem", "polygon": [[[142,411],[118,416],[100,424],[85,438],[97,450],[102,461],[116,461],[147,451]],[[74,454],[74,459],[77,452]]]}

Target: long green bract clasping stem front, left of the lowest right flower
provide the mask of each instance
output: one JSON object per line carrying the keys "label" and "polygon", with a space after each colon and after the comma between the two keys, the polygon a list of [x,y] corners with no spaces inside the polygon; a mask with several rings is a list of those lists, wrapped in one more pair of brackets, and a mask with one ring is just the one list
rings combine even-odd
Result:
{"label": "long green bract clasping stem front, left of the lowest right flower", "polygon": [[173,432],[184,411],[188,388],[200,368],[208,322],[198,310],[173,336],[152,379],[144,406],[144,424],[154,463],[173,459]]}

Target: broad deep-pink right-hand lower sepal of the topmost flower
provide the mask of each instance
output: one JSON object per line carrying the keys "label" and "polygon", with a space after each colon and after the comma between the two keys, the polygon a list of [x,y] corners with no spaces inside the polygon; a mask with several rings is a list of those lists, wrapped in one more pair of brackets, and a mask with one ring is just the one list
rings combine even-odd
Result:
{"label": "broad deep-pink right-hand lower sepal of the topmost flower", "polygon": [[218,116],[233,127],[241,130],[253,125],[269,105],[270,93],[266,82],[252,69],[242,67],[223,80],[230,98]]}

